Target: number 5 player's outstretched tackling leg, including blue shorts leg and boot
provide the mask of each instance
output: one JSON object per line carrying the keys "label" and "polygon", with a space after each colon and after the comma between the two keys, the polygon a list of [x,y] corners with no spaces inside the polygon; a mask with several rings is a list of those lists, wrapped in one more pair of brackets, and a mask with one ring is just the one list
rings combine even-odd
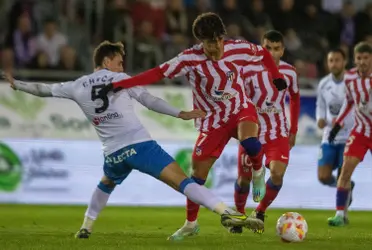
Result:
{"label": "number 5 player's outstretched tackling leg, including blue shorts leg and boot", "polygon": [[218,213],[221,215],[222,225],[241,225],[249,228],[262,226],[260,221],[248,219],[245,215],[229,208],[209,189],[188,178],[174,159],[155,141],[138,143],[128,150],[135,154],[126,159],[126,165],[163,181],[193,202]]}

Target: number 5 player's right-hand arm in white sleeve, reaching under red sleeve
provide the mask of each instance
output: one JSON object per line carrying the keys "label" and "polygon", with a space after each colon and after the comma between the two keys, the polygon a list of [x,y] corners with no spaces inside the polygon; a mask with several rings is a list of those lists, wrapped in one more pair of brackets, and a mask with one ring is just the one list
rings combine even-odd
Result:
{"label": "number 5 player's right-hand arm in white sleeve, reaching under red sleeve", "polygon": [[181,118],[183,120],[191,120],[205,116],[205,113],[201,110],[193,110],[189,112],[181,111],[180,109],[169,105],[169,103],[163,99],[151,95],[145,88],[142,87],[130,88],[128,89],[128,93],[143,106],[160,114]]}

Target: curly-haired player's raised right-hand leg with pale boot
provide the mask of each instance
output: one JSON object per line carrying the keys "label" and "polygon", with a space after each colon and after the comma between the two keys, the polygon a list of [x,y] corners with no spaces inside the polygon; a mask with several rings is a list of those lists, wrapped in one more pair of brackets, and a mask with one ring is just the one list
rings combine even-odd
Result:
{"label": "curly-haired player's raised right-hand leg with pale boot", "polygon": [[259,202],[266,192],[265,168],[262,167],[262,145],[258,139],[258,119],[253,104],[239,113],[237,123],[238,140],[253,163],[253,200]]}

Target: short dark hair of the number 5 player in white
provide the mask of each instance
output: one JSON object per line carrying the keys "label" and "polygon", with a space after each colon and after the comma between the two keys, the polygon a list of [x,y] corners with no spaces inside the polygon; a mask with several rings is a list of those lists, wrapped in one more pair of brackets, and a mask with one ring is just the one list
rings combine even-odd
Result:
{"label": "short dark hair of the number 5 player in white", "polygon": [[103,59],[105,57],[113,58],[116,55],[124,56],[124,45],[121,42],[112,43],[109,41],[104,41],[100,43],[93,53],[93,63],[94,67],[102,66]]}

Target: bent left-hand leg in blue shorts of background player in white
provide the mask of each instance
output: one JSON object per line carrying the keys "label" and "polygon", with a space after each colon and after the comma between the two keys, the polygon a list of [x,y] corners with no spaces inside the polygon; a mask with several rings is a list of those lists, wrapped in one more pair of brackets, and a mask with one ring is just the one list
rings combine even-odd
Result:
{"label": "bent left-hand leg in blue shorts of background player in white", "polygon": [[323,185],[337,186],[337,178],[332,175],[338,161],[335,145],[324,143],[320,146],[318,157],[318,180]]}

